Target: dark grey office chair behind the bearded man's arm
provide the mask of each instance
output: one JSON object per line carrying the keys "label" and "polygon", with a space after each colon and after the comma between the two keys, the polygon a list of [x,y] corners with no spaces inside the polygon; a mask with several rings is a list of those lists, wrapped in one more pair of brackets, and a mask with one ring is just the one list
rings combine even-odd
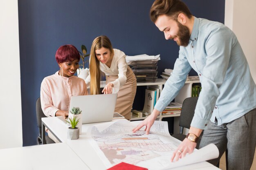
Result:
{"label": "dark grey office chair behind the bearded man's arm", "polygon": [[[183,141],[186,138],[186,135],[183,135],[183,129],[190,128],[190,124],[191,124],[191,121],[192,121],[194,113],[195,113],[195,106],[196,106],[197,102],[198,102],[198,97],[188,97],[183,101],[182,110],[180,113],[180,123],[179,123],[180,133],[173,134],[173,135],[171,135],[172,137],[175,137],[176,139],[179,139],[180,141]],[[197,149],[199,148],[202,134],[198,138],[198,142],[195,147]],[[226,170],[228,170],[227,150],[225,152],[226,152]],[[219,167],[219,166],[220,166],[220,162],[217,164],[217,167]]]}

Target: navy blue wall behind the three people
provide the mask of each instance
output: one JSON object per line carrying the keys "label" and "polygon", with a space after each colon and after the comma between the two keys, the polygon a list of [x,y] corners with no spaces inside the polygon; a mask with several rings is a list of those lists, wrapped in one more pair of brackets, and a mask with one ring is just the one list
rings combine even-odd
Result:
{"label": "navy blue wall behind the three people", "polygon": [[[184,2],[196,17],[224,23],[224,0]],[[80,50],[85,44],[90,50],[94,38],[107,35],[113,47],[126,55],[161,54],[159,73],[173,68],[179,47],[166,41],[150,21],[152,3],[153,0],[18,0],[23,146],[36,144],[35,103],[43,78],[58,70],[54,56],[59,46],[73,44]]]}

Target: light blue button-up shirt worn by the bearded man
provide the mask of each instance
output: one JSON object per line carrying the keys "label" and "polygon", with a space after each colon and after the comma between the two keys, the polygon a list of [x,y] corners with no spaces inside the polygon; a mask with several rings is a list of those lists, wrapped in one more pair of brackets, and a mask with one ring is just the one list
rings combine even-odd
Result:
{"label": "light blue button-up shirt worn by the bearded man", "polygon": [[191,126],[206,129],[209,120],[229,123],[256,108],[256,85],[236,35],[224,24],[195,18],[189,45],[180,46],[173,73],[155,109],[176,97],[189,71],[199,75],[202,90]]}

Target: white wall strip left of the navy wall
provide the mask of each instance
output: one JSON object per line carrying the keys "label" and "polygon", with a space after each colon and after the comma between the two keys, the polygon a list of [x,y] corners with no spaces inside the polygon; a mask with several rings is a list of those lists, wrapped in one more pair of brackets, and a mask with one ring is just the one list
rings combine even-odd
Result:
{"label": "white wall strip left of the navy wall", "polygon": [[22,146],[18,0],[0,0],[0,149]]}

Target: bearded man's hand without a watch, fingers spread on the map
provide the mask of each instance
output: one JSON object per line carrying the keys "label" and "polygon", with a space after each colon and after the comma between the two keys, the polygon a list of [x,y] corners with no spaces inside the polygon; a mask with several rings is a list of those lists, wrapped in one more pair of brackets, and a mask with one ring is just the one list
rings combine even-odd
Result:
{"label": "bearded man's hand without a watch, fingers spread on the map", "polygon": [[146,128],[144,130],[146,131],[146,134],[148,135],[149,130],[150,130],[151,126],[154,124],[154,121],[157,118],[157,116],[159,115],[159,113],[160,112],[158,110],[154,109],[153,112],[145,120],[143,120],[140,124],[138,124],[136,126],[136,128],[132,129],[132,132],[136,132],[143,126],[146,126]]}

